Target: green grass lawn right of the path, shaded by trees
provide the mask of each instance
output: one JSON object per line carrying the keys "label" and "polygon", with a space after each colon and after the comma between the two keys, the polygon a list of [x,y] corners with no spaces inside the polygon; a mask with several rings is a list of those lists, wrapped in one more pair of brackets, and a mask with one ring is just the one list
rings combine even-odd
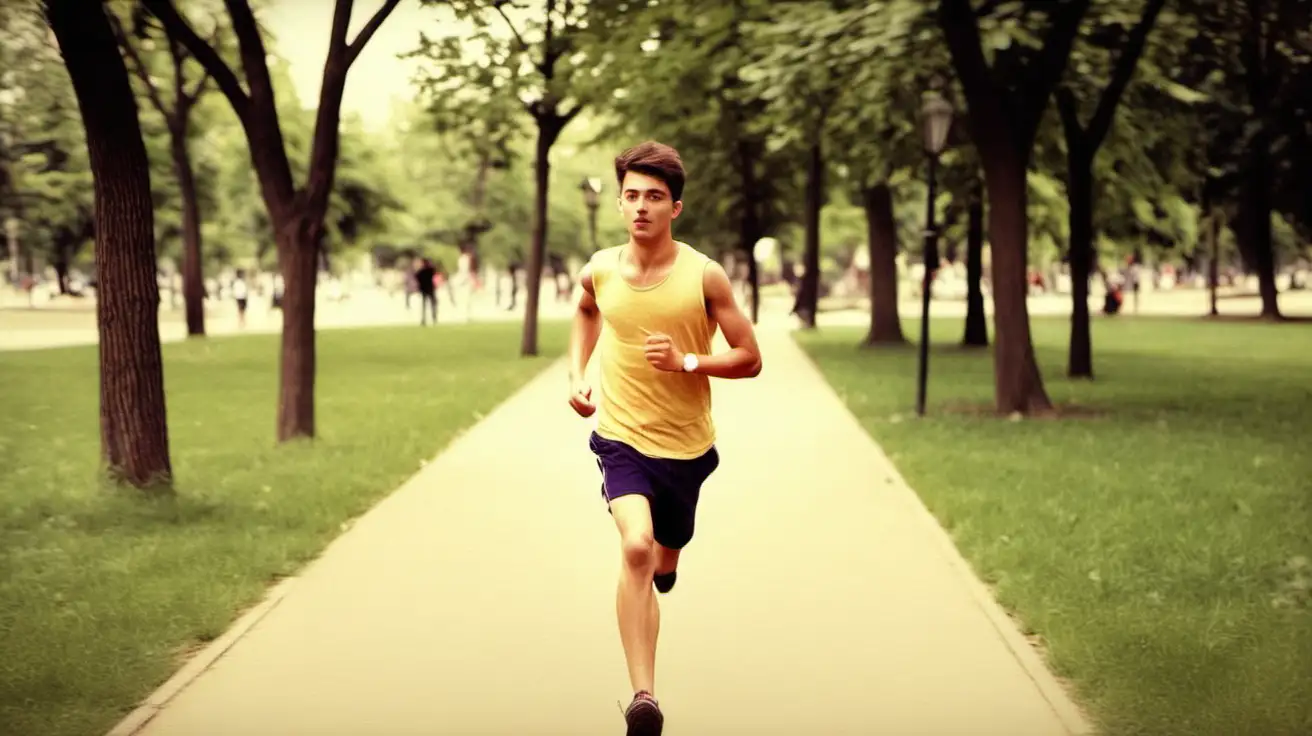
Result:
{"label": "green grass lawn right of the path, shaded by trees", "polygon": [[1018,422],[971,411],[992,358],[932,329],[925,421],[914,348],[799,342],[1101,732],[1312,733],[1312,328],[1096,319],[1089,383],[1035,319],[1050,395],[1088,412]]}

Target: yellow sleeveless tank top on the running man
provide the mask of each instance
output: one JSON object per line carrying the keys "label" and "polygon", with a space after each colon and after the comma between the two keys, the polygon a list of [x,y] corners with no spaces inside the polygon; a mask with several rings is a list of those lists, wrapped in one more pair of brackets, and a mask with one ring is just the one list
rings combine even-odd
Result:
{"label": "yellow sleeveless tank top on the running man", "polygon": [[597,434],[648,457],[690,459],[715,443],[710,378],[659,370],[643,350],[647,332],[659,332],[684,353],[711,352],[715,323],[702,291],[711,260],[686,243],[677,245],[669,274],[649,286],[634,286],[621,276],[623,245],[592,257],[593,294],[602,316]]}

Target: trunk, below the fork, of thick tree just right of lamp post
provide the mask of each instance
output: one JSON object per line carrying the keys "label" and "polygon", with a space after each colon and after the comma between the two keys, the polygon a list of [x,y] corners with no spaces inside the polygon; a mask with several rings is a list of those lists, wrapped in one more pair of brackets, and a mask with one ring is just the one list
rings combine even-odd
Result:
{"label": "trunk, below the fork, of thick tree just right of lamp post", "polygon": [[997,411],[1004,415],[1052,408],[1030,338],[1025,169],[1025,157],[1012,150],[989,151],[985,157],[988,239],[993,247],[993,383]]}

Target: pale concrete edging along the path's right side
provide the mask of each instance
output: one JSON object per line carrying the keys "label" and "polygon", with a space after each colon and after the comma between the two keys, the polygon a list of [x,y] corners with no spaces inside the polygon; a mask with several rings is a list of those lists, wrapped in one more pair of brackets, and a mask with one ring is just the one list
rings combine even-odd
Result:
{"label": "pale concrete edging along the path's right side", "polygon": [[[823,379],[824,371],[820,370],[820,366],[811,357],[811,353],[807,353],[802,345],[798,345],[798,349],[802,350],[802,353],[807,357],[807,362],[811,363],[811,367],[819,373]],[[829,384],[827,379],[825,384]],[[838,400],[842,401],[842,398],[840,396]],[[846,401],[844,401],[844,405],[846,407]],[[884,453],[884,449],[880,447],[879,443],[875,442],[874,437],[870,436],[870,432],[861,425],[861,420],[858,420],[850,409],[846,412],[846,416],[858,426],[861,433],[870,440],[870,451],[887,460],[892,474],[892,491],[903,495],[907,504],[916,510],[916,517],[925,525],[926,531],[934,537],[934,542],[939,547],[943,558],[947,559],[949,564],[960,577],[962,583],[967,589],[970,589],[971,597],[975,598],[975,603],[984,611],[984,615],[988,617],[989,623],[993,624],[998,636],[1001,636],[1006,643],[1006,647],[1010,649],[1012,656],[1015,657],[1017,664],[1021,665],[1021,669],[1025,670],[1029,678],[1034,682],[1034,686],[1038,687],[1043,699],[1047,701],[1057,719],[1061,720],[1061,724],[1071,732],[1071,736],[1093,736],[1096,731],[1088,716],[1080,706],[1076,705],[1075,698],[1067,687],[1057,681],[1055,674],[1052,674],[1047,663],[1043,661],[1039,652],[1035,651],[1030,642],[1025,638],[1025,634],[1022,634],[1015,626],[1015,621],[1013,621],[1010,614],[1008,614],[1002,605],[997,602],[997,598],[993,597],[993,592],[989,590],[988,585],[985,585],[984,581],[975,573],[975,568],[971,567],[970,562],[967,562],[967,559],[962,555],[960,550],[956,548],[956,543],[953,542],[953,535],[943,529],[943,525],[938,522],[938,517],[929,510],[925,502],[920,499],[920,495],[917,495],[916,491],[907,483],[907,479],[903,478],[897,466],[888,459],[888,454]]]}

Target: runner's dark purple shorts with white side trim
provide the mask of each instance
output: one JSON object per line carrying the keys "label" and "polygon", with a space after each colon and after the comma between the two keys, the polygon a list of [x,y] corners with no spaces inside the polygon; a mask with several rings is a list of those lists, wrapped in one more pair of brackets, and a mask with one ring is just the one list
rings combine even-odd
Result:
{"label": "runner's dark purple shorts with white side trim", "polygon": [[607,504],[628,493],[647,496],[652,506],[652,531],[659,544],[682,550],[693,539],[702,483],[720,464],[715,447],[690,460],[649,458],[596,432],[588,438],[588,447],[597,455],[601,495]]}

